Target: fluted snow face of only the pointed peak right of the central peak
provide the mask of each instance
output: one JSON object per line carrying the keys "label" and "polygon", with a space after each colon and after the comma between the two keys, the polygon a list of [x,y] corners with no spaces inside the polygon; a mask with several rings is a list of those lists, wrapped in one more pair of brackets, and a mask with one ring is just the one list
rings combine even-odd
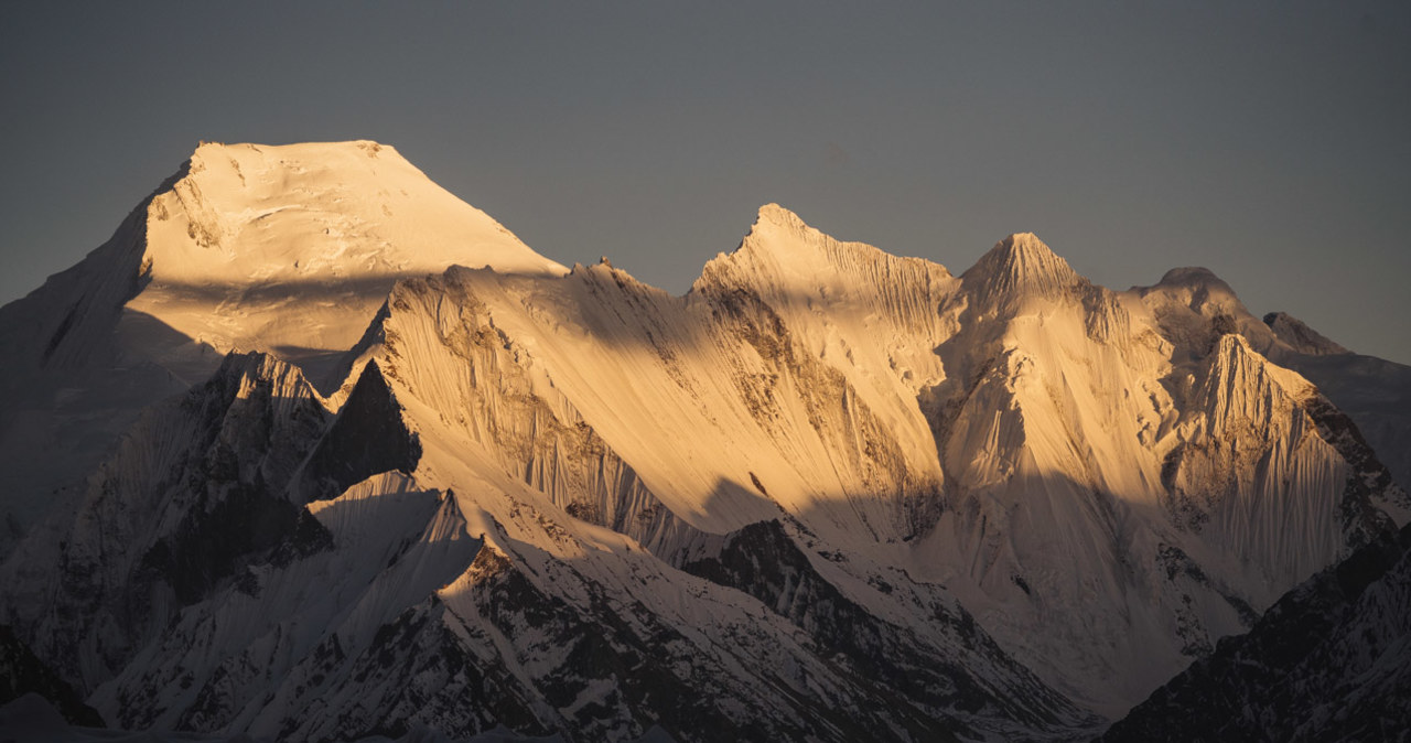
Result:
{"label": "fluted snow face of only the pointed peak right of the central peak", "polygon": [[1119,711],[1260,601],[1163,508],[1177,423],[1205,412],[1168,391],[1173,347],[1150,316],[1031,235],[998,244],[938,312],[959,330],[919,402],[947,508],[912,570],[1060,688]]}

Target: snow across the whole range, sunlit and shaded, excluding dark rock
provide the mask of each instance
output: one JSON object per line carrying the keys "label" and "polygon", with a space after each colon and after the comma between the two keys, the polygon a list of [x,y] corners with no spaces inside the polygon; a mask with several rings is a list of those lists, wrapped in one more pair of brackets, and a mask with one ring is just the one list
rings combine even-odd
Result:
{"label": "snow across the whole range, sunlit and shaded, excluding dark rock", "polygon": [[[485,592],[507,575],[586,615],[608,602],[642,636],[672,627],[680,674],[714,674],[744,712],[797,709],[761,668],[789,670],[787,694],[844,704],[854,670],[820,658],[779,606],[679,570],[779,519],[813,572],[919,653],[1007,701],[1041,696],[1027,668],[1116,715],[1379,527],[1376,509],[1342,522],[1348,482],[1404,517],[1346,443],[1322,438],[1318,389],[1280,365],[1287,327],[1205,269],[1118,293],[1019,233],[955,276],[777,204],[677,297],[607,261],[569,271],[536,255],[387,145],[206,144],[114,241],[0,314],[27,360],[7,369],[7,399],[47,393],[0,419],[4,462],[25,492],[75,493],[14,508],[25,526],[45,506],[59,516],[6,565],[24,584],[7,598],[38,596],[35,616],[14,613],[44,619],[59,563],[47,534],[93,557],[176,529],[179,485],[148,485],[178,471],[203,423],[179,402],[150,406],[258,350],[270,358],[226,371],[238,399],[272,389],[279,420],[332,416],[377,362],[420,455],[329,501],[288,491],[333,547],[251,568],[253,592],[222,587],[140,637],[114,678],[93,675],[106,712],[155,689],[157,722],[174,725],[210,681],[231,705],[212,725],[277,735],[327,705],[299,722],[327,735],[339,711],[405,704],[353,674],[392,626],[423,627],[408,641],[432,656],[444,630],[539,688],[567,673],[562,627],[497,625]],[[258,416],[241,409],[223,436],[247,451],[238,434]],[[90,441],[21,460],[42,448],[27,438],[80,426]],[[119,495],[71,469],[116,478]],[[121,589],[137,557],[104,585]],[[993,650],[955,646],[938,618],[961,608]],[[347,661],[330,667],[334,646]],[[186,673],[205,681],[183,687]],[[526,705],[567,720],[619,704],[607,678],[573,682],[567,704]],[[636,725],[614,709],[600,732]],[[993,709],[965,719],[1037,735]]]}

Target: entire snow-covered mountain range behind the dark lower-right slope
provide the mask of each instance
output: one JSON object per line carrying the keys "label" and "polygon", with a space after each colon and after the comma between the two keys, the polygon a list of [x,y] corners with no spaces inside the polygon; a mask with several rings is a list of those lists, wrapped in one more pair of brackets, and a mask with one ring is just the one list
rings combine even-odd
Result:
{"label": "entire snow-covered mountain range behind the dark lower-right slope", "polygon": [[373,142],[202,145],[0,341],[0,622],[128,727],[1082,737],[1411,515],[1411,369],[1204,269],[769,204],[670,296]]}

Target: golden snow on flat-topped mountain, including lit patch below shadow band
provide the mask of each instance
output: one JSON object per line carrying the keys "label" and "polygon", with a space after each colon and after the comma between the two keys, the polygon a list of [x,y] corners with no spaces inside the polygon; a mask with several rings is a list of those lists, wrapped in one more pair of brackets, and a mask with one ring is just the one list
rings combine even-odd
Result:
{"label": "golden snow on flat-topped mountain, including lit patch below shadow band", "polygon": [[374,142],[203,144],[147,226],[150,283],[128,310],[295,361],[351,347],[399,278],[566,271]]}

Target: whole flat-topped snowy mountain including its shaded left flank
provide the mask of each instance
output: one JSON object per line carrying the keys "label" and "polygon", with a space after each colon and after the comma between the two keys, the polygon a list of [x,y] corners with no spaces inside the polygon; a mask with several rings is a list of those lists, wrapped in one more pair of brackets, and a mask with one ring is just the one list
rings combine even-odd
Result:
{"label": "whole flat-topped snowy mountain including its shaded left flank", "polygon": [[449,265],[566,271],[391,147],[202,144],[111,240],[0,309],[0,467],[34,493],[6,501],[0,554],[143,406],[229,351],[322,383],[394,282]]}

